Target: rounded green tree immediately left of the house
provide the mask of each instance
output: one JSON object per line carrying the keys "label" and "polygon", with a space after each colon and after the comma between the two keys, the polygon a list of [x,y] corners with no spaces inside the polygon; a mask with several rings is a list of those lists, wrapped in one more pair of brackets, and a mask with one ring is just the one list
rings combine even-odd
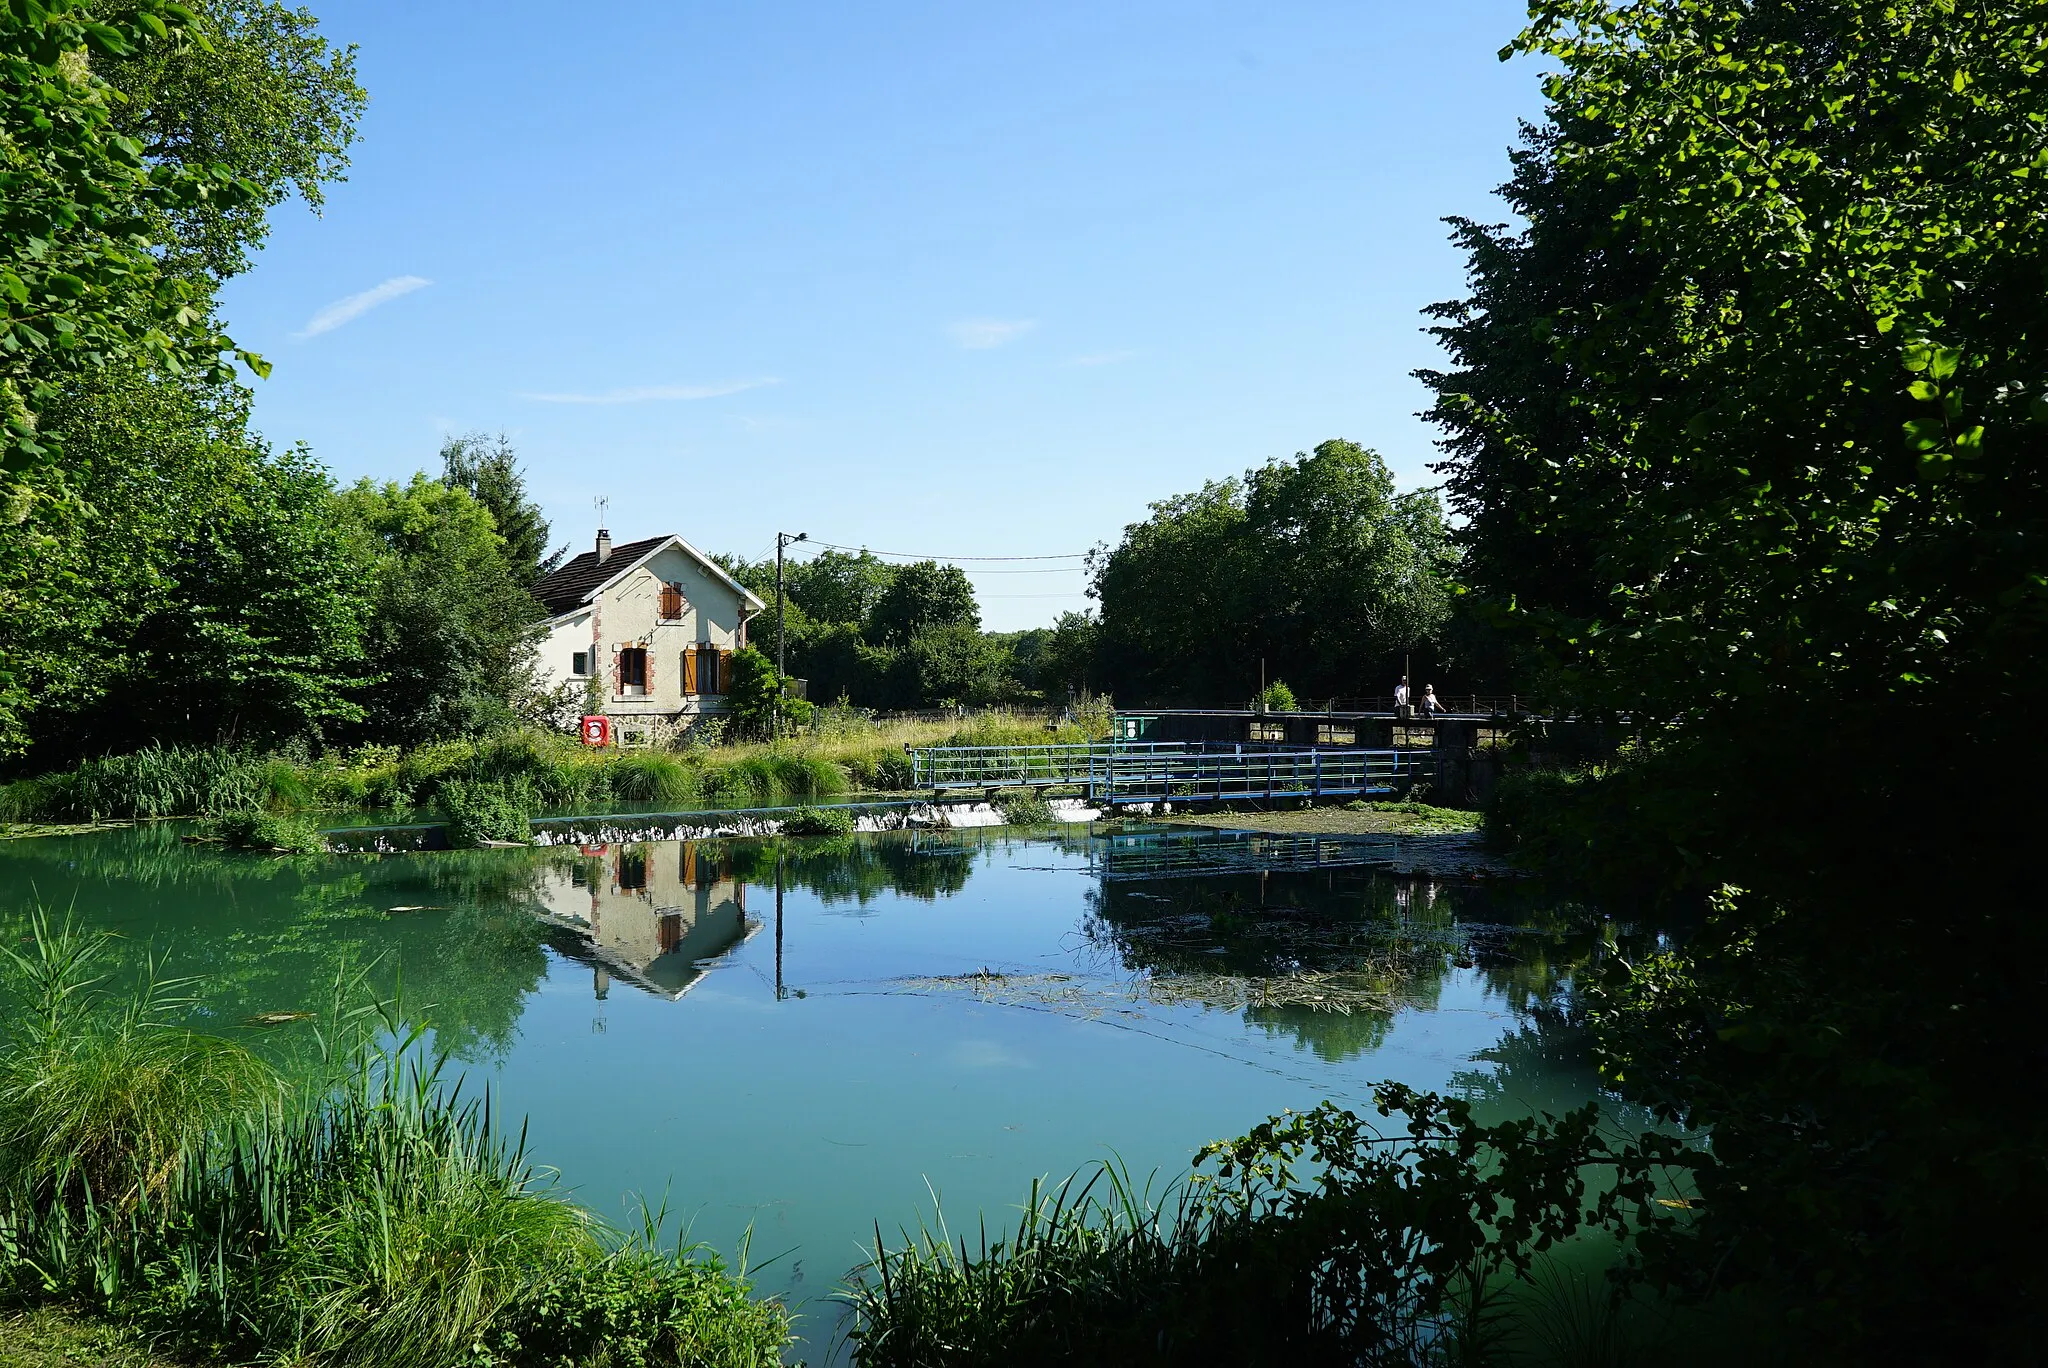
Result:
{"label": "rounded green tree immediately left of the house", "polygon": [[516,721],[535,688],[543,608],[506,563],[489,510],[414,475],[362,479],[340,491],[336,514],[373,563],[365,737],[418,743]]}

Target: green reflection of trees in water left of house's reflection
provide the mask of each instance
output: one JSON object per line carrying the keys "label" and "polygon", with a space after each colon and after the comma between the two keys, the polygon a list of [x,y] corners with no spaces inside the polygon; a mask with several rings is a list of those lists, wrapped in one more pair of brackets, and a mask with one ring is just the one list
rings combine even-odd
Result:
{"label": "green reflection of trees in water left of house's reflection", "polygon": [[[530,915],[547,850],[449,850],[391,858],[268,858],[184,846],[147,825],[84,838],[6,842],[0,917],[8,934],[37,903],[84,926],[117,926],[113,958],[139,975],[147,954],[199,979],[199,1012],[231,1026],[305,1010],[338,975],[369,969],[373,991],[403,989],[461,1057],[512,1042],[547,973]],[[428,911],[389,913],[389,907]]]}

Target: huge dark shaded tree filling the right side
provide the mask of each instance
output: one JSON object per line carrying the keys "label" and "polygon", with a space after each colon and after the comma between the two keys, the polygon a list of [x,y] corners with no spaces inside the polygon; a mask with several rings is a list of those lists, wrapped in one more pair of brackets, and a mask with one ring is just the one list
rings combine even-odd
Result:
{"label": "huge dark shaded tree filling the right side", "polygon": [[1602,1006],[1714,1128],[1665,1270],[1860,1362],[2025,1356],[2038,805],[1982,795],[2048,760],[2048,10],[1538,0],[1516,49],[1522,227],[1458,225],[1423,379],[1470,584],[1655,745],[1559,795],[1575,848],[1747,889]]}

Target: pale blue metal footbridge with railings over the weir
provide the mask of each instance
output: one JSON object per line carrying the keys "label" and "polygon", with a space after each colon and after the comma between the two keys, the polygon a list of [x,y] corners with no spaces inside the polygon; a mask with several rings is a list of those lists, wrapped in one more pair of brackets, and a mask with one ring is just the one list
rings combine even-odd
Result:
{"label": "pale blue metal footbridge with railings over the weir", "polygon": [[1423,762],[1399,750],[1288,750],[1219,741],[934,745],[913,750],[911,786],[932,793],[1081,788],[1092,803],[1323,799],[1395,793]]}

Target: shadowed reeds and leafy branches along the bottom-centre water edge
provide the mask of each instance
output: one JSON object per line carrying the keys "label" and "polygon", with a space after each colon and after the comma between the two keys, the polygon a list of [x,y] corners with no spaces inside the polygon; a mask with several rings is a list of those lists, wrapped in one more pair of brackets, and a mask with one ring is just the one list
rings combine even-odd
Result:
{"label": "shadowed reeds and leafy branches along the bottom-centre water edge", "polygon": [[1477,1362],[1540,1255],[1665,1237],[1690,1206],[1659,1194],[1710,1163],[1671,1137],[1614,1143],[1593,1106],[1487,1126],[1399,1083],[1376,1104],[1405,1132],[1323,1104],[1204,1147],[1157,1200],[1100,1165],[1034,1184],[1016,1231],[983,1227],[973,1251],[942,1216],[877,1239],[848,1294],[860,1362]]}

